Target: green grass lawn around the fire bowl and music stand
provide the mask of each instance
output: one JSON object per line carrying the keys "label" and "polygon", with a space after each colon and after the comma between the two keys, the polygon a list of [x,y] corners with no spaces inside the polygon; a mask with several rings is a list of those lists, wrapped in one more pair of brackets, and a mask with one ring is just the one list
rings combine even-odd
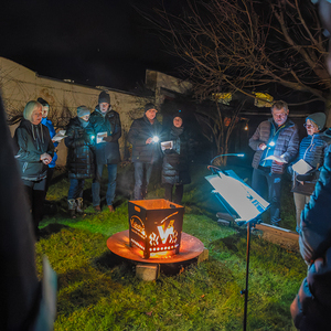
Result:
{"label": "green grass lawn around the fire bowl and music stand", "polygon": [[[130,173],[129,167],[119,172]],[[239,291],[245,288],[246,233],[245,228],[223,227],[215,222],[218,205],[210,194],[206,174],[205,167],[195,166],[193,183],[185,186],[182,204],[183,231],[203,242],[209,260],[174,276],[161,274],[151,282],[138,280],[135,266],[114,256],[106,246],[109,236],[128,228],[126,195],[117,195],[115,213],[104,207],[96,214],[88,180],[86,214],[71,220],[66,215],[68,180],[57,174],[47,194],[57,212],[45,216],[36,244],[40,276],[42,256],[46,255],[58,277],[55,330],[243,329],[244,297]],[[162,188],[151,189],[149,199],[163,197]],[[285,222],[295,228],[289,197],[286,193]],[[306,276],[300,255],[253,235],[249,270],[247,330],[296,330],[289,306]]]}

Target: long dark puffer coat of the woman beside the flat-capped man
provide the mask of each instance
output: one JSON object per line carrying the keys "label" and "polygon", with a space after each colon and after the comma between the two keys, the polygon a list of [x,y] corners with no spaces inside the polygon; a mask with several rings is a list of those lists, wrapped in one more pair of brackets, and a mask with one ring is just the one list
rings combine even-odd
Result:
{"label": "long dark puffer coat of the woman beside the flat-capped man", "polygon": [[163,184],[189,184],[190,161],[192,146],[189,135],[183,130],[178,135],[177,128],[172,127],[162,137],[164,141],[172,141],[173,148],[163,151],[162,183]]}

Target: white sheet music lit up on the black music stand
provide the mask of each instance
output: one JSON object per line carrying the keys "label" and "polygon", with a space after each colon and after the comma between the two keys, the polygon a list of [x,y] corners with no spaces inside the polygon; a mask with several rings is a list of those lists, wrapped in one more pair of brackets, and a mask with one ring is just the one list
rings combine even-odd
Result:
{"label": "white sheet music lit up on the black music stand", "polygon": [[236,214],[235,222],[249,222],[264,213],[270,204],[243,182],[234,171],[206,175],[215,191]]}

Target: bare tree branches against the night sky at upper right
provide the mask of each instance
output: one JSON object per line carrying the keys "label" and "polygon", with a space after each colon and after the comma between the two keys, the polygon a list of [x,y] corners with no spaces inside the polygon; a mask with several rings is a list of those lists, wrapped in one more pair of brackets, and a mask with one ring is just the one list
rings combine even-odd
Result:
{"label": "bare tree branches against the night sky at upper right", "polygon": [[[327,38],[309,0],[188,0],[182,15],[156,9],[158,24],[201,98],[277,83],[329,98]],[[161,19],[161,20],[160,20]]]}

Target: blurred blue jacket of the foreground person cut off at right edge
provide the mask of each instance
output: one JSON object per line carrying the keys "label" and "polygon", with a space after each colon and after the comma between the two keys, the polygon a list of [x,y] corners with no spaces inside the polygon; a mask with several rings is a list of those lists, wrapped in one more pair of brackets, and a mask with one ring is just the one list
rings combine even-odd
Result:
{"label": "blurred blue jacket of the foreground person cut off at right edge", "polygon": [[300,253],[310,268],[291,305],[300,330],[329,330],[331,311],[331,152],[301,214]]}

